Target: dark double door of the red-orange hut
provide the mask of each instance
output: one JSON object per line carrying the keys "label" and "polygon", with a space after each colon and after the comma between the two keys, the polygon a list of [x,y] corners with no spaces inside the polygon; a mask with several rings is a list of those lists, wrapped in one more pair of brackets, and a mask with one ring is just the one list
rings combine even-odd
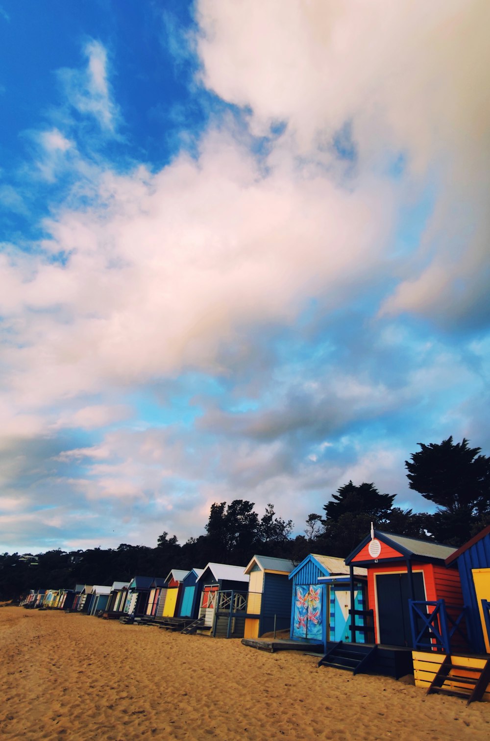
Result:
{"label": "dark double door of the red-orange hut", "polygon": [[[423,574],[413,576],[415,599],[426,599]],[[379,642],[392,646],[411,646],[408,574],[377,574],[376,585]]]}

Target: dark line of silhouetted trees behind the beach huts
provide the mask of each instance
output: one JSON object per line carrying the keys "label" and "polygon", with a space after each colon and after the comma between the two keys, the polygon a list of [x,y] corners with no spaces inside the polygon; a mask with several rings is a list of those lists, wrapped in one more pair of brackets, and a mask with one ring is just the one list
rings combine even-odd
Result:
{"label": "dark line of silhouetted trees behind the beach huts", "polygon": [[254,554],[297,563],[309,553],[345,557],[368,534],[371,522],[387,532],[462,545],[490,524],[490,458],[470,448],[466,439],[418,445],[420,451],[405,461],[405,468],[410,488],[436,505],[433,513],[403,510],[394,505],[396,495],[380,494],[374,483],[349,481],[322,514],[308,515],[304,534],[293,537],[293,522],[278,516],[272,504],[259,517],[254,502],[215,502],[205,534],[183,545],[164,532],[156,548],[122,543],[87,551],[56,549],[39,554],[36,562],[19,554],[0,555],[0,599],[15,599],[30,588],[110,585],[135,574],[165,577],[171,568],[203,568],[208,562],[246,565]]}

